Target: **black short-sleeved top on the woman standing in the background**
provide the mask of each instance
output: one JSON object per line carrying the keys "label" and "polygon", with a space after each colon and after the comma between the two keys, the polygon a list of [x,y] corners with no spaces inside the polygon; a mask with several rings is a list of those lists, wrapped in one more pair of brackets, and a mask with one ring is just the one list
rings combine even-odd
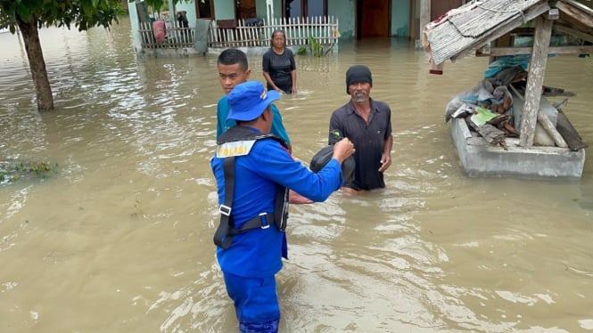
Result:
{"label": "black short-sleeved top on the woman standing in the background", "polygon": [[[278,88],[282,89],[284,93],[292,93],[291,71],[296,69],[296,63],[291,49],[284,48],[284,53],[276,54],[270,48],[264,53],[261,66]],[[268,90],[273,89],[272,85],[268,84]]]}

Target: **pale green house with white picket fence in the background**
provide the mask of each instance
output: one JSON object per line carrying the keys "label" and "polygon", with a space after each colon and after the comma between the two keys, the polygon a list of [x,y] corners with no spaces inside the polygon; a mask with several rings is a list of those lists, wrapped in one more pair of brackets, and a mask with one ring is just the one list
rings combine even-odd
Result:
{"label": "pale green house with white picket fence in the background", "polygon": [[[427,23],[465,0],[169,0],[169,12],[152,12],[143,1],[128,3],[134,45],[138,54],[160,52],[194,53],[205,48],[229,46],[266,47],[271,27],[291,33],[289,46],[308,45],[308,35],[337,52],[339,39],[369,37],[420,37],[421,22]],[[431,12],[432,8],[432,12]],[[177,12],[185,12],[187,29],[177,24]],[[424,15],[424,19],[421,18]],[[152,20],[164,20],[165,44],[152,40]],[[309,22],[307,22],[309,20]],[[203,33],[209,30],[209,33]],[[196,37],[209,38],[196,45]],[[289,35],[289,34],[287,34]],[[233,42],[233,43],[231,43]],[[292,43],[292,44],[291,44]],[[235,45],[233,45],[235,44]]]}

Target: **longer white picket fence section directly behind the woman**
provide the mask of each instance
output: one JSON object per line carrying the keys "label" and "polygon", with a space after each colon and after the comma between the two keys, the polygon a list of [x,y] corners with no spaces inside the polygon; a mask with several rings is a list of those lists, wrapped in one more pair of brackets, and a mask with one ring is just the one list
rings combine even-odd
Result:
{"label": "longer white picket fence section directly behind the woman", "polygon": [[338,43],[338,19],[330,17],[273,18],[264,20],[213,20],[210,23],[208,46],[211,48],[270,46],[272,33],[283,30],[287,46],[309,45],[309,37],[320,45]]}

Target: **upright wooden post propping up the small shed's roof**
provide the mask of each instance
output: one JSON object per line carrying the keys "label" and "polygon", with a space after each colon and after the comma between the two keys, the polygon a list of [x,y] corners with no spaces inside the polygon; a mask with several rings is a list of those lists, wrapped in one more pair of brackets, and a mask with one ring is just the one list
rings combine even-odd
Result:
{"label": "upright wooden post propping up the small shed's roof", "polygon": [[535,37],[527,74],[525,105],[523,106],[521,135],[519,137],[519,145],[524,148],[533,145],[535,125],[538,121],[539,102],[541,100],[541,87],[546,74],[548,48],[552,37],[552,23],[552,20],[548,20],[544,16],[539,16],[535,20]]}

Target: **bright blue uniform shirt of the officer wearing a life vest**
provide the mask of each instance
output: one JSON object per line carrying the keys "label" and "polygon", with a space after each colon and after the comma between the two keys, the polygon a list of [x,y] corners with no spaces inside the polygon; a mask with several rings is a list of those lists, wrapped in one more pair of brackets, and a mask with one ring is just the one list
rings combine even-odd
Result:
{"label": "bright blue uniform shirt of the officer wearing a life vest", "polygon": [[[218,186],[218,204],[223,204],[225,199],[223,162],[224,158],[217,156],[210,161]],[[314,174],[292,159],[280,142],[269,138],[258,140],[248,155],[235,158],[232,204],[235,228],[241,228],[259,213],[274,212],[278,183],[314,201],[324,201],[342,185],[342,168],[332,159]],[[274,224],[268,229],[240,233],[233,238],[229,248],[217,248],[218,264],[223,272],[242,277],[274,275],[282,268],[285,241],[284,232]]]}

